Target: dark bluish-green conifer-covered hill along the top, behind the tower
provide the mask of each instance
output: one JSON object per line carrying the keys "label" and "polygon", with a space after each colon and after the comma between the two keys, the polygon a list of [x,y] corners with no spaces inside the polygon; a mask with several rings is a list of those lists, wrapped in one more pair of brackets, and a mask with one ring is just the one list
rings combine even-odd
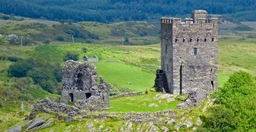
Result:
{"label": "dark bluish-green conifer-covered hill along the top, behind the tower", "polygon": [[0,12],[50,20],[115,22],[159,20],[204,9],[238,20],[256,20],[255,0],[1,0]]}

